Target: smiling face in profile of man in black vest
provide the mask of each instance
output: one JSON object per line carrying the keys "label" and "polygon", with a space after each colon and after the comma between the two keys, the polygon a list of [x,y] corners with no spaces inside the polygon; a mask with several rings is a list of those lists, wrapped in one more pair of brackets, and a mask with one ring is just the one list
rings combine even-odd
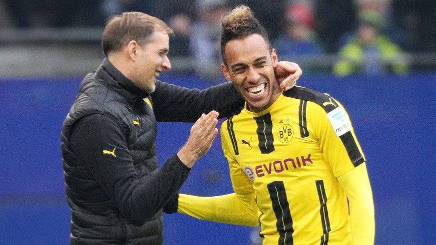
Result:
{"label": "smiling face in profile of man in black vest", "polygon": [[168,59],[169,36],[165,32],[155,31],[150,42],[138,46],[135,53],[134,77],[131,79],[138,87],[152,93],[156,88],[156,77],[163,70],[171,69]]}

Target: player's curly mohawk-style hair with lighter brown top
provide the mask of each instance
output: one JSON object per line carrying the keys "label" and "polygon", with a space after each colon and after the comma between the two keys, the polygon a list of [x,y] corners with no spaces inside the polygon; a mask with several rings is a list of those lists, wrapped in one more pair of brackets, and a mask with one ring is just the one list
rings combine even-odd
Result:
{"label": "player's curly mohawk-style hair with lighter brown top", "polygon": [[[254,17],[253,11],[246,5],[238,5],[221,18],[223,29],[221,31],[221,56],[226,64],[224,49],[227,43],[234,39],[243,39],[251,34],[259,34],[265,39],[270,51],[271,43],[265,28]],[[226,64],[227,65],[227,64]]]}

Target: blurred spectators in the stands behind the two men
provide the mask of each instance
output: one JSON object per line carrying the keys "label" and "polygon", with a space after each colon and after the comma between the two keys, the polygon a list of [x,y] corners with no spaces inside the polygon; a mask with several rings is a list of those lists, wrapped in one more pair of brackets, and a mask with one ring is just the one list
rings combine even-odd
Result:
{"label": "blurred spectators in the stands behind the two men", "polygon": [[[435,71],[416,62],[436,52],[435,0],[0,0],[1,28],[103,27],[123,11],[141,11],[174,29],[170,58],[191,58],[203,77],[220,76],[220,18],[252,8],[280,60],[305,74],[378,75]],[[415,62],[413,59],[415,58]],[[329,62],[330,61],[330,62]],[[213,67],[213,68],[211,68]],[[91,68],[91,67],[90,67]]]}

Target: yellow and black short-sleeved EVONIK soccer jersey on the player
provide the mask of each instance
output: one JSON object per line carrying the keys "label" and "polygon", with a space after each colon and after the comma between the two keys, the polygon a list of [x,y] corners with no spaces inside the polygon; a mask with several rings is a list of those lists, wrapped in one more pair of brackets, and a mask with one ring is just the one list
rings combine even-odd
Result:
{"label": "yellow and black short-sleeved EVONIK soccer jersey on the player", "polygon": [[236,193],[254,191],[264,244],[351,244],[337,177],[365,162],[347,112],[327,94],[296,86],[260,113],[221,125]]}

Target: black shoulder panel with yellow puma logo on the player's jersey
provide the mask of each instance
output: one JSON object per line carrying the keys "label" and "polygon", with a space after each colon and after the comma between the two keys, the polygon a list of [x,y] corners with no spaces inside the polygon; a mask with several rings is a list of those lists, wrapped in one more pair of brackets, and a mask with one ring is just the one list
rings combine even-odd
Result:
{"label": "black shoulder panel with yellow puma logo on the player's jersey", "polygon": [[329,94],[302,86],[294,86],[292,89],[284,91],[283,95],[289,98],[313,102],[327,113],[340,106],[340,103]]}

